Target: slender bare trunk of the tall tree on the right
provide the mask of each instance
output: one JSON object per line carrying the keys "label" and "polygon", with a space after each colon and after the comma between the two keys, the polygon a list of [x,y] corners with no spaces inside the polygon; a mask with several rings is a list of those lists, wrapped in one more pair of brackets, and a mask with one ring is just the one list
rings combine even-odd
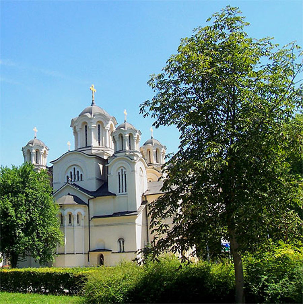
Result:
{"label": "slender bare trunk of the tall tree on the right", "polygon": [[233,256],[233,265],[235,268],[236,303],[245,303],[243,265],[241,255],[238,252],[239,244],[236,240],[235,232],[231,231],[230,235],[230,251]]}

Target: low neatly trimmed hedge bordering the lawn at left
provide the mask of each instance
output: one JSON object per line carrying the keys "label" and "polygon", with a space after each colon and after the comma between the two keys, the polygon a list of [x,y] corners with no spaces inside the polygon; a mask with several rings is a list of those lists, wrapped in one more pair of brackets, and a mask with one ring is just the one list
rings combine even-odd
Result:
{"label": "low neatly trimmed hedge bordering the lawn at left", "polygon": [[[2,292],[76,295],[87,281],[89,268],[23,268],[0,270]],[[91,271],[91,270],[90,270]]]}

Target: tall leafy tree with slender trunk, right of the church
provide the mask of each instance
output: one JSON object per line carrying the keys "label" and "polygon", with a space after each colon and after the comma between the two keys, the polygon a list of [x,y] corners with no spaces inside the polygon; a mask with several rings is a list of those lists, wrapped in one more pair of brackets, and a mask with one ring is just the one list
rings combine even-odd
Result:
{"label": "tall leafy tree with slender trunk, right of the church", "polygon": [[140,107],[155,127],[173,124],[181,134],[165,165],[165,194],[150,205],[152,252],[202,243],[216,252],[228,240],[237,302],[244,301],[243,252],[270,238],[302,238],[293,207],[303,198],[302,178],[288,162],[302,155],[303,129],[294,120],[302,111],[300,48],[248,37],[244,19],[227,6],[182,39],[162,73],[151,75],[155,96]]}

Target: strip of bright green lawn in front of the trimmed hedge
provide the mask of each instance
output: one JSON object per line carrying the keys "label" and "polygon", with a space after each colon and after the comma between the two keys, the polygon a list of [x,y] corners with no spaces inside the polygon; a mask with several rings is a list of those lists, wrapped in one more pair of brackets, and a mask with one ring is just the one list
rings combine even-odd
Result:
{"label": "strip of bright green lawn in front of the trimmed hedge", "polygon": [[83,304],[80,297],[0,292],[0,304]]}

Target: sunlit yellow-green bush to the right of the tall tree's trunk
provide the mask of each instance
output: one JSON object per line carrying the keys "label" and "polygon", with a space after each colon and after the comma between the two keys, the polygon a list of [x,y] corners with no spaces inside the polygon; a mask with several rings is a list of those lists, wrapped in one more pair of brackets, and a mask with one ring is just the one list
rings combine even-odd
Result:
{"label": "sunlit yellow-green bush to the right of the tall tree's trunk", "polygon": [[244,258],[247,302],[299,303],[303,293],[303,247],[280,242]]}

